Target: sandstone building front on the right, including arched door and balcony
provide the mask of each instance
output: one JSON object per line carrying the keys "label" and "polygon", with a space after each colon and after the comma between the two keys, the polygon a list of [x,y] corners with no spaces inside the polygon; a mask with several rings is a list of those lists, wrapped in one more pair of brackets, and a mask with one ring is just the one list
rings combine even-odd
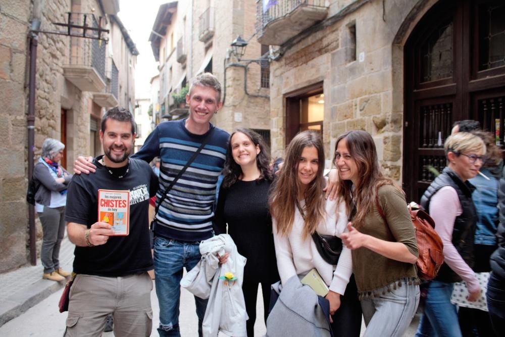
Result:
{"label": "sandstone building front on the right, including arched door and balcony", "polygon": [[[320,130],[326,166],[347,130],[372,134],[383,171],[419,201],[445,166],[453,122],[479,120],[503,147],[505,4],[462,0],[258,0],[271,45],[273,155]],[[471,20],[469,20],[471,18]]]}

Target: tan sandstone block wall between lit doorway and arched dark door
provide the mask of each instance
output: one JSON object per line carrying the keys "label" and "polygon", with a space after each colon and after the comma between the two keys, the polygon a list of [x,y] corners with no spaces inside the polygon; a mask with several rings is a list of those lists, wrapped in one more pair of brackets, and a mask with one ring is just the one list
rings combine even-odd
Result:
{"label": "tan sandstone block wall between lit doorway and arched dark door", "polygon": [[[330,16],[350,3],[331,1]],[[393,61],[392,51],[395,36],[416,2],[385,2],[384,13],[382,2],[361,3],[356,11],[302,39],[271,64],[273,155],[282,156],[285,148],[286,94],[322,81],[327,158],[340,134],[363,129],[374,137],[385,174],[400,181],[403,84],[396,80],[393,85],[393,77],[402,73],[402,57],[397,55]]]}

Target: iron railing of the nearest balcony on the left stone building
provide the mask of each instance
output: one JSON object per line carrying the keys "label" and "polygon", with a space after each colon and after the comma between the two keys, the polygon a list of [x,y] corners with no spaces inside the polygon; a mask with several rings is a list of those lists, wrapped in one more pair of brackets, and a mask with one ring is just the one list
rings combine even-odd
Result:
{"label": "iron railing of the nearest balcony on the left stone building", "polygon": [[[71,22],[81,22],[81,13],[72,13]],[[90,18],[88,16],[88,18]],[[91,27],[97,28],[98,22],[91,16]],[[89,66],[93,67],[98,75],[105,81],[105,64],[106,64],[106,43],[102,40],[71,37],[70,43],[70,65]]]}

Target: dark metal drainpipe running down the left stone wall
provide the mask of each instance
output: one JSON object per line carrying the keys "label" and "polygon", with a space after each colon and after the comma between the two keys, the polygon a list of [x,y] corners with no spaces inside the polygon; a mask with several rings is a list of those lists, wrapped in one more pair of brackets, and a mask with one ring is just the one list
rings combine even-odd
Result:
{"label": "dark metal drainpipe running down the left stone wall", "polygon": [[[33,19],[29,32],[30,39],[30,74],[28,86],[28,116],[26,117],[28,129],[28,180],[33,175],[33,156],[35,147],[35,75],[37,69],[37,45],[38,33],[40,28],[40,1],[33,2]],[[30,237],[30,263],[32,266],[37,264],[37,249],[35,246],[35,207],[28,204],[28,224]]]}

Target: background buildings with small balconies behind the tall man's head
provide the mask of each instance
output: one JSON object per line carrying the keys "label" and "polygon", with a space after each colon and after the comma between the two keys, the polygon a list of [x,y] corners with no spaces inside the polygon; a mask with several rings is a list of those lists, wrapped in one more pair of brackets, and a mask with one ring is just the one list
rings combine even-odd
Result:
{"label": "background buildings with small balconies behind the tall man's head", "polygon": [[[255,3],[245,0],[160,6],[149,41],[160,63],[159,102],[165,120],[187,116],[181,91],[194,76],[212,72],[223,84],[223,107],[211,122],[229,132],[237,127],[256,129],[270,141],[269,62],[258,60],[268,46],[256,40],[254,13]],[[238,35],[248,40],[242,60],[230,46]]]}

